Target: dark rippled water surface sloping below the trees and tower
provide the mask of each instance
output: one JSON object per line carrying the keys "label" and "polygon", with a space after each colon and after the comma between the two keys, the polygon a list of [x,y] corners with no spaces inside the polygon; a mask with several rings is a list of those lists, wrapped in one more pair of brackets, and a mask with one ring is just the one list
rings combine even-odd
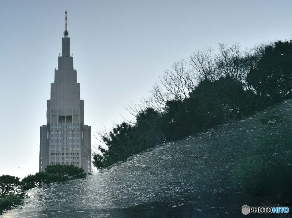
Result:
{"label": "dark rippled water surface sloping below the trees and tower", "polygon": [[164,144],[86,179],[34,188],[2,217],[271,217],[244,216],[241,207],[292,199],[291,105]]}

